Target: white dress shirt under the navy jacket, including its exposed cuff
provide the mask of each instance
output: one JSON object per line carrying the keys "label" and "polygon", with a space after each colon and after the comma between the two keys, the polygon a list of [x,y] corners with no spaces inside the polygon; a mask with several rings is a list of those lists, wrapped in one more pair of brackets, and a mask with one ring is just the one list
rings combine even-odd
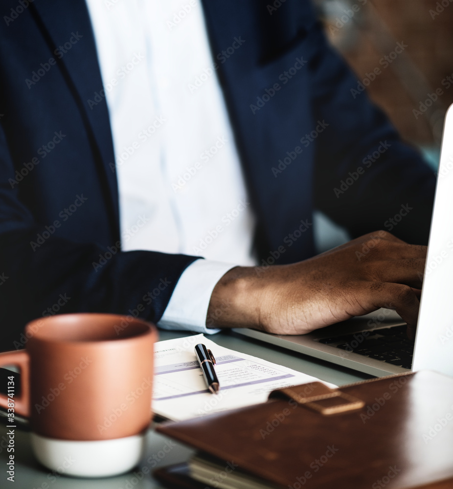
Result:
{"label": "white dress shirt under the navy jacket, including its exposed cuff", "polygon": [[202,6],[86,2],[112,127],[122,249],[206,258],[185,269],[159,326],[211,333],[215,284],[231,267],[255,264],[254,217]]}

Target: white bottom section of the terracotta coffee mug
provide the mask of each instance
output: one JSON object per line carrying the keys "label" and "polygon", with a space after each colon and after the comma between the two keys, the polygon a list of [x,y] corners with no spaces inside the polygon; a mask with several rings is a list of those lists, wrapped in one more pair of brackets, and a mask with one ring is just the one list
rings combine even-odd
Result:
{"label": "white bottom section of the terracotta coffee mug", "polygon": [[134,468],[146,433],[113,440],[61,440],[31,433],[35,457],[50,470],[75,477],[110,477]]}

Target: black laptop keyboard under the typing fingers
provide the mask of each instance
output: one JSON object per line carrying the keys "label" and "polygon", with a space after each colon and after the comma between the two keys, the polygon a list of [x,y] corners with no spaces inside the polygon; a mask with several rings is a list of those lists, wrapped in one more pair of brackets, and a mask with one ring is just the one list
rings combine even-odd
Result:
{"label": "black laptop keyboard under the typing fingers", "polygon": [[323,338],[317,341],[341,350],[410,369],[414,343],[408,339],[406,329],[407,327],[404,324],[379,330]]}

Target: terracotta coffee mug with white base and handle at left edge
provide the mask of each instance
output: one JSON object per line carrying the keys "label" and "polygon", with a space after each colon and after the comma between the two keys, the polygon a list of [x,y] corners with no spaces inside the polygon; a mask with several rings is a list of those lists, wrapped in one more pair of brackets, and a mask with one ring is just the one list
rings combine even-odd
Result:
{"label": "terracotta coffee mug with white base and handle at left edge", "polygon": [[[61,314],[25,327],[15,412],[30,419],[37,459],[66,475],[104,477],[139,462],[151,421],[154,325],[131,316]],[[7,398],[0,405],[7,407]]]}

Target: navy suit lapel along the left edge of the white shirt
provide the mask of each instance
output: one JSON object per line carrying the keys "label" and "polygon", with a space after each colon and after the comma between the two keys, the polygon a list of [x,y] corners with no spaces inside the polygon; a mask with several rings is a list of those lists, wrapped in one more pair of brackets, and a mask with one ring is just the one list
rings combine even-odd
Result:
{"label": "navy suit lapel along the left edge of the white shirt", "polygon": [[30,8],[36,12],[36,22],[78,101],[117,239],[118,190],[116,174],[109,166],[114,164],[113,140],[87,6],[83,0],[47,0],[31,3]]}

